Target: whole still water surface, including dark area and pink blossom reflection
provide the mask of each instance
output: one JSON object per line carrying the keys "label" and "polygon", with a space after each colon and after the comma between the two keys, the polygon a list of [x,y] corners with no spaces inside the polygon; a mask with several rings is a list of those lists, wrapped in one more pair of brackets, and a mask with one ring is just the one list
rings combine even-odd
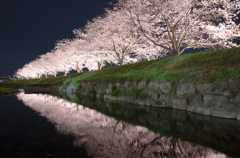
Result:
{"label": "whole still water surface, including dark area and pink blossom reflection", "polygon": [[240,157],[238,121],[71,100],[0,97],[0,157]]}

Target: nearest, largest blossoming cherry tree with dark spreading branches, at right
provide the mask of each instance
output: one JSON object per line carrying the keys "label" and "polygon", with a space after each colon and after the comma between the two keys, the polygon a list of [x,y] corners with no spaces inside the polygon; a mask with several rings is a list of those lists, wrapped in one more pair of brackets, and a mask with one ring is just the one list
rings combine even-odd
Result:
{"label": "nearest, largest blossoming cherry tree with dark spreading branches, at right", "polygon": [[239,0],[118,0],[154,45],[182,54],[188,48],[237,46]]}

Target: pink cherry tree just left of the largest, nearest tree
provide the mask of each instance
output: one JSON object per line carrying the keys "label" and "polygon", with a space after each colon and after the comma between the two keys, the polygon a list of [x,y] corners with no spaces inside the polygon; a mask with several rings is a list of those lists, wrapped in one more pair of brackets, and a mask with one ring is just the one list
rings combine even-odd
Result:
{"label": "pink cherry tree just left of the largest, nearest tree", "polygon": [[[88,22],[84,30],[86,38],[92,43],[92,48],[98,52],[103,51],[105,54],[110,53],[115,58],[113,61],[117,61],[120,65],[138,61],[137,58],[130,58],[132,52],[139,54],[149,50],[146,49],[146,40],[141,38],[128,14],[126,10],[118,8],[106,10],[104,16]],[[158,50],[153,52],[158,53]]]}

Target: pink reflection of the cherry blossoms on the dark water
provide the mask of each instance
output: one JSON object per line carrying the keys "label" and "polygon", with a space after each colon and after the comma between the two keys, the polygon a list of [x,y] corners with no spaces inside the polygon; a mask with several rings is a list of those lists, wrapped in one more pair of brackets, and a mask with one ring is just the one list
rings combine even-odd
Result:
{"label": "pink reflection of the cherry blossoms on the dark water", "polygon": [[224,154],[174,137],[164,137],[145,127],[108,117],[82,105],[50,95],[17,94],[26,106],[55,124],[58,132],[73,135],[93,157],[211,157]]}

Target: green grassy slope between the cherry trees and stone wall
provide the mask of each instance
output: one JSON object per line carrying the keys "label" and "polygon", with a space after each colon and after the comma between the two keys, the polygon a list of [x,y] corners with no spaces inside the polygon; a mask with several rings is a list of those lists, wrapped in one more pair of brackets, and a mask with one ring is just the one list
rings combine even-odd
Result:
{"label": "green grassy slope between the cherry trees and stone wall", "polygon": [[[98,71],[82,72],[69,76],[30,80],[14,80],[0,83],[0,87],[22,87],[27,84],[55,84],[63,82],[123,82],[131,80],[155,80],[158,82],[215,82],[240,79],[240,47],[199,52],[162,58]],[[2,90],[4,92],[5,90]]]}

